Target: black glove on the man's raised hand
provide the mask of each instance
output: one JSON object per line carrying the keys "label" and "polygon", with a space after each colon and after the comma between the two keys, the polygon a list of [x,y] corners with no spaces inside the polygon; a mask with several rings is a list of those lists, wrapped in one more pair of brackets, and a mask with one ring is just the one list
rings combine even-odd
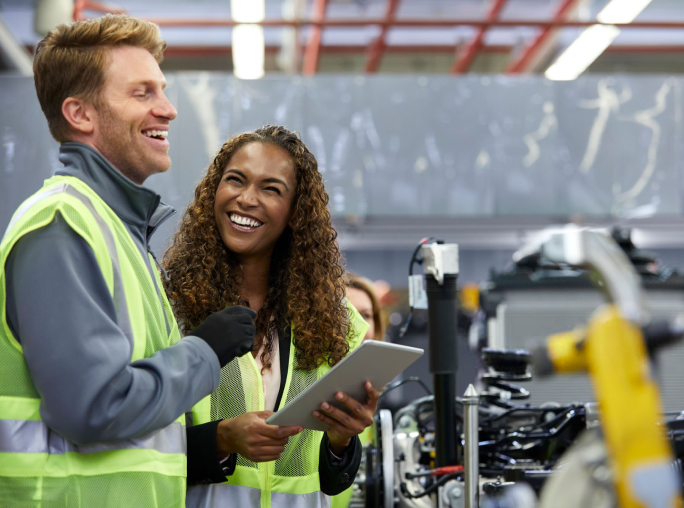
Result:
{"label": "black glove on the man's raised hand", "polygon": [[228,307],[214,312],[188,335],[199,337],[214,350],[221,367],[254,348],[256,312],[247,307]]}

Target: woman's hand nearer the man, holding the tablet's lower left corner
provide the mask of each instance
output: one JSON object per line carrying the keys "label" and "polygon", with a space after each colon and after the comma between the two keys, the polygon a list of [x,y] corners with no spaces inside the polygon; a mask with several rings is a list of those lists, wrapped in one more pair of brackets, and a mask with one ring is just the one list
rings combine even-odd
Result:
{"label": "woman's hand nearer the man, holding the tablet's lower left corner", "polygon": [[272,414],[273,411],[258,411],[222,420],[216,429],[219,456],[239,453],[252,462],[278,460],[287,440],[304,429],[269,425],[266,419]]}

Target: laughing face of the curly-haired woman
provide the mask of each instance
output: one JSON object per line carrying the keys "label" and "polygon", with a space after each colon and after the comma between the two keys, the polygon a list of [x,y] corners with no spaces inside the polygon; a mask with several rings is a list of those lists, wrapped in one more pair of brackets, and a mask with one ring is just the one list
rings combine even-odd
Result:
{"label": "laughing face of the curly-haired woman", "polygon": [[223,243],[241,259],[270,256],[292,216],[295,168],[280,147],[250,143],[233,154],[216,189]]}

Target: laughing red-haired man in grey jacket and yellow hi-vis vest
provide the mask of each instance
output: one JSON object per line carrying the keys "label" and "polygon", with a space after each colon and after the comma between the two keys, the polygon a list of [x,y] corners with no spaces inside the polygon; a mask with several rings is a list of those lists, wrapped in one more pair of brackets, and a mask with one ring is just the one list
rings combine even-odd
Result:
{"label": "laughing red-haired man in grey jacket and yellow hi-vis vest", "polygon": [[184,506],[182,415],[253,347],[242,307],[179,340],[148,254],[173,213],[141,186],[170,166],[164,48],[155,25],[108,15],[36,49],[64,168],[0,244],[0,506]]}

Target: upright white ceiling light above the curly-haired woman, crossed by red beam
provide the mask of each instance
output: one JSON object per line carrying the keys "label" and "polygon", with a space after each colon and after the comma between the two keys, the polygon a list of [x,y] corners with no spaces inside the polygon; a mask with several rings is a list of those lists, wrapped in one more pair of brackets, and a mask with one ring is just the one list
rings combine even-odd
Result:
{"label": "upright white ceiling light above the curly-haired woman, crossed by red beam", "polygon": [[[230,0],[230,12],[239,23],[258,23],[266,13],[264,0]],[[264,76],[264,29],[259,25],[236,25],[232,31],[233,74],[241,79]]]}

